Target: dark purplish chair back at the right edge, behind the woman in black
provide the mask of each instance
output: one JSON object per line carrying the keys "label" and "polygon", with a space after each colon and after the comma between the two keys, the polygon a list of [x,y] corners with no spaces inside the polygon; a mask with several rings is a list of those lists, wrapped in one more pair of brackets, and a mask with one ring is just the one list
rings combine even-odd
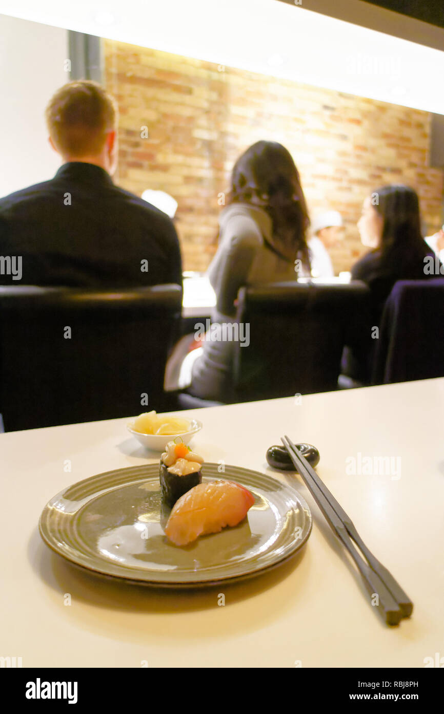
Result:
{"label": "dark purplish chair back at the right edge, behind the woman in black", "polygon": [[444,278],[400,280],[383,309],[373,384],[444,376]]}

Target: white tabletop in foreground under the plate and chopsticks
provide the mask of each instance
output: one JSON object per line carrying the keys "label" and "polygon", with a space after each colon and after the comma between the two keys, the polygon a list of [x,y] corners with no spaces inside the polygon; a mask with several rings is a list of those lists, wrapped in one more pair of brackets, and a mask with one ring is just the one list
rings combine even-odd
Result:
{"label": "white tabletop in foreground under the plate and chopsticks", "polygon": [[[444,378],[181,416],[202,421],[192,446],[205,461],[261,471],[299,491],[313,516],[305,547],[255,578],[197,590],[94,575],[46,547],[38,532],[43,507],[70,484],[159,456],[130,435],[127,418],[0,434],[2,657],[48,668],[440,662]],[[393,628],[384,623],[301,478],[267,465],[267,448],[284,434],[319,448],[316,471],[413,600],[410,619]],[[381,463],[391,465],[387,473]]]}

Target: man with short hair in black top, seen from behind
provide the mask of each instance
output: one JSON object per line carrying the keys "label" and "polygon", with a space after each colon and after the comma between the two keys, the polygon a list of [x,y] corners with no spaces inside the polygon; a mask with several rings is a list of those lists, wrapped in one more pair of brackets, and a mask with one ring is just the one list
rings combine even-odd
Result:
{"label": "man with short hair in black top, seen from behind", "polygon": [[[46,122],[56,176],[0,199],[0,255],[21,256],[21,283],[78,288],[182,286],[171,219],[113,183],[117,108],[92,81],[66,84]],[[17,285],[0,275],[3,285]]]}

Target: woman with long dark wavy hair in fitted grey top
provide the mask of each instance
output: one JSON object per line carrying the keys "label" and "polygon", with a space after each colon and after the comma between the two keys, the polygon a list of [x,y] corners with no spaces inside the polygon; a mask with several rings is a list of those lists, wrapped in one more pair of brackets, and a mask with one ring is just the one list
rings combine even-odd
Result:
{"label": "woman with long dark wavy hair in fitted grey top", "polygon": [[[299,173],[289,151],[274,141],[250,146],[234,165],[228,205],[220,213],[219,246],[208,269],[217,298],[213,323],[234,322],[242,286],[309,275],[308,226]],[[193,396],[225,401],[233,353],[232,341],[204,340],[202,348],[185,357],[179,386],[191,381],[187,391]]]}

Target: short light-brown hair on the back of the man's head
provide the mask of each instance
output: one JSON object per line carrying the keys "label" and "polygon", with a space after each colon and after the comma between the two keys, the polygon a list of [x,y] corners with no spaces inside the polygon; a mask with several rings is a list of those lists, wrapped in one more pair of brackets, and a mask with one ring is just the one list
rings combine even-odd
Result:
{"label": "short light-brown hair on the back of the man's head", "polygon": [[46,107],[49,136],[62,156],[95,156],[117,126],[115,99],[100,84],[82,79],[65,84]]}

